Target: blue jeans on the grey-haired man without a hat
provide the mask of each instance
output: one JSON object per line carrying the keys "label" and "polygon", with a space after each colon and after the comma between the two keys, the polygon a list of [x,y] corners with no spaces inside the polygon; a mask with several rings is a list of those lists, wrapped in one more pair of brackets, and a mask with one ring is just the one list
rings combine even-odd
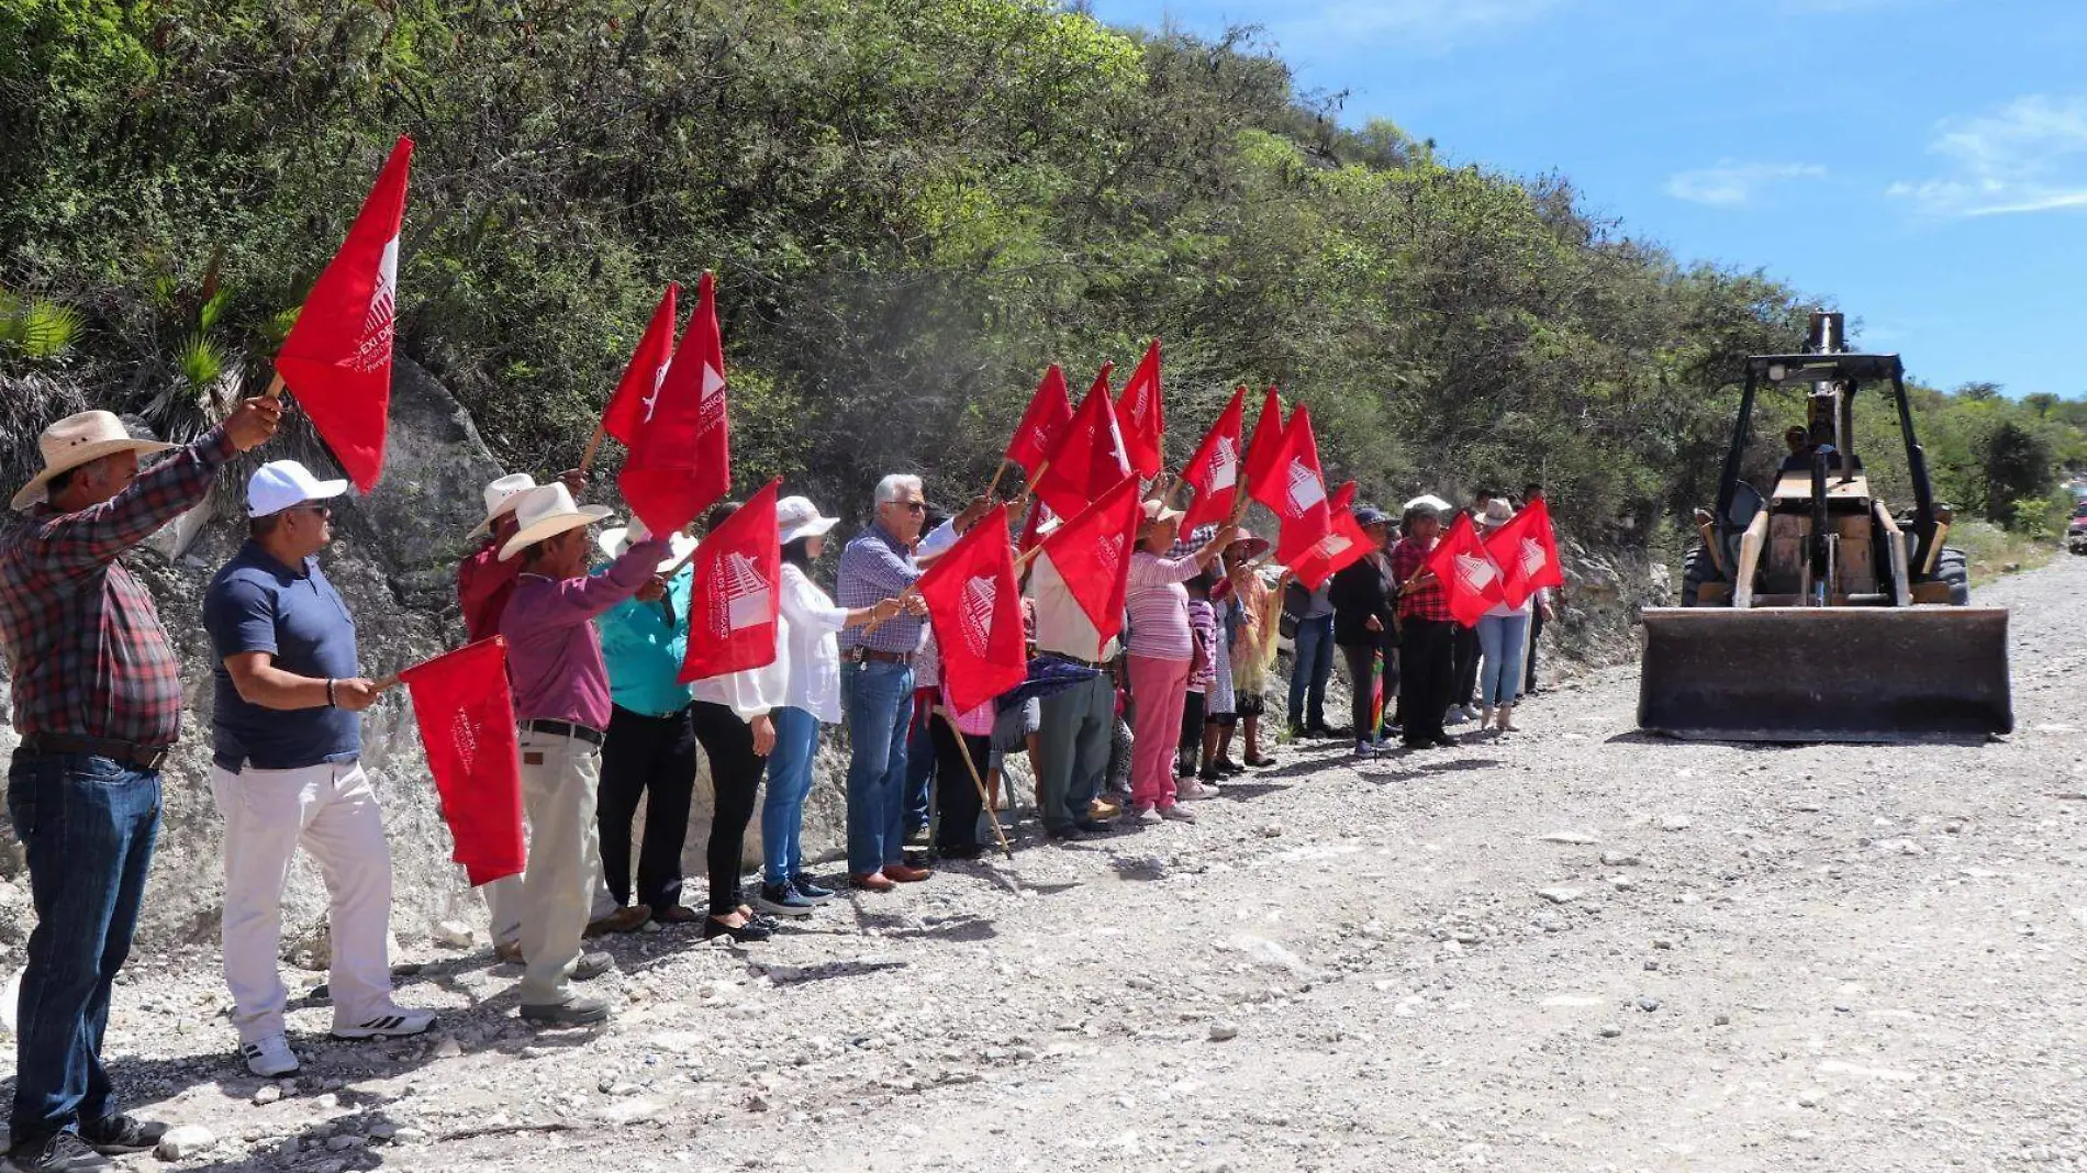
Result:
{"label": "blue jeans on the grey-haired man without a hat", "polygon": [[841,712],[854,749],[847,760],[847,875],[866,877],[906,862],[912,666],[841,664]]}

